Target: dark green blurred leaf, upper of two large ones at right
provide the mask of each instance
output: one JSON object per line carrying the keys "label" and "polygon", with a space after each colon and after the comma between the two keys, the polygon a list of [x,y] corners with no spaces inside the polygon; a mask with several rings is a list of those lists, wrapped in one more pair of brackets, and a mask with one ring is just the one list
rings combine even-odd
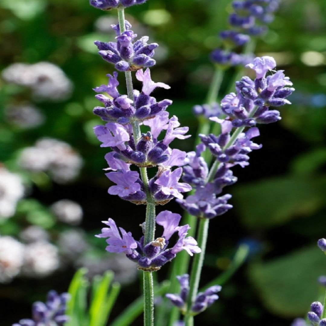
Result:
{"label": "dark green blurred leaf, upper of two large ones at right", "polygon": [[235,207],[250,228],[270,228],[325,205],[326,176],[270,178],[241,185],[233,191]]}

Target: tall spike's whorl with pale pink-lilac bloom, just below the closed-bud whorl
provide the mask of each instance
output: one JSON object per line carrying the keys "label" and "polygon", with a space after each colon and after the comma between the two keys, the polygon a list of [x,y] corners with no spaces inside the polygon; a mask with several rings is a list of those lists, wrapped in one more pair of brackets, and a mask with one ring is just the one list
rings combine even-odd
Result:
{"label": "tall spike's whorl with pale pink-lilac bloom, just below the closed-bud whorl", "polygon": [[156,102],[156,99],[150,96],[156,87],[169,89],[170,86],[161,82],[153,82],[148,68],[145,72],[140,69],[136,73],[136,77],[143,82],[143,87],[141,93],[137,90],[134,91],[134,103],[126,95],[119,94],[117,89],[119,85],[117,72],[114,71],[113,76],[110,74],[107,76],[109,77],[108,85],[94,88],[95,92],[106,92],[113,98],[111,99],[103,94],[95,96],[105,107],[95,107],[93,113],[104,121],[116,122],[121,125],[128,125],[133,121],[142,122],[154,118],[172,104],[172,101],[168,99]]}

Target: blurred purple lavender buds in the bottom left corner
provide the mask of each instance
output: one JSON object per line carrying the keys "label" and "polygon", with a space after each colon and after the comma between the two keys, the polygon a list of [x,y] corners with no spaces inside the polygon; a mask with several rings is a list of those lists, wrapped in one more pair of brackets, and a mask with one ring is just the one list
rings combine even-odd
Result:
{"label": "blurred purple lavender buds in the bottom left corner", "polygon": [[21,319],[12,326],[62,326],[69,320],[65,315],[68,300],[68,293],[58,295],[52,290],[47,295],[46,303],[37,301],[33,304],[32,319]]}

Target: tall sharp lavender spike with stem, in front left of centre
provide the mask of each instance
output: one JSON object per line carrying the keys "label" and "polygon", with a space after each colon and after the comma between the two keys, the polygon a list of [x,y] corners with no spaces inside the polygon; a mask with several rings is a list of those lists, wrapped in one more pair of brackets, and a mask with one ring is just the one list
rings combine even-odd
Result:
{"label": "tall sharp lavender spike with stem, in front left of centre", "polygon": [[[156,216],[155,206],[164,205],[173,198],[183,198],[184,192],[191,186],[179,182],[182,175],[186,153],[171,149],[175,139],[186,139],[188,127],[180,127],[178,118],[169,118],[167,107],[170,100],[157,101],[151,93],[156,87],[169,89],[170,86],[154,82],[148,67],[153,66],[152,59],[157,44],[148,45],[148,37],[142,37],[133,43],[136,35],[125,21],[124,8],[144,1],[91,1],[91,5],[100,9],[117,7],[118,24],[112,25],[117,34],[117,42],[99,42],[99,54],[115,65],[119,71],[125,71],[127,95],[121,95],[117,89],[118,73],[108,75],[108,85],[101,85],[94,90],[106,92],[110,97],[97,95],[104,107],[96,107],[94,113],[106,121],[105,126],[96,126],[95,134],[102,147],[111,147],[106,155],[109,165],[107,177],[116,185],[109,188],[109,193],[118,195],[123,200],[135,204],[146,204],[146,220],[142,224],[144,236],[136,241],[130,232],[116,227],[113,219],[104,222],[109,228],[102,229],[98,237],[108,238],[109,252],[124,252],[126,257],[135,261],[143,270],[144,277],[144,324],[154,324],[154,290],[152,273],[172,260],[178,252],[186,250],[190,255],[199,253],[200,248],[193,237],[187,237],[188,225],[179,226],[181,216],[170,211],[163,211]],[[145,71],[143,68],[147,67]],[[142,82],[141,92],[133,90],[131,71]],[[141,133],[141,126],[149,126],[150,131]],[[164,131],[162,140],[159,135]],[[140,173],[131,170],[135,165]],[[147,169],[158,167],[156,175],[148,179]],[[176,169],[173,169],[177,167]],[[155,237],[156,223],[163,226],[161,237]],[[170,237],[178,232],[178,239],[168,247]]]}

